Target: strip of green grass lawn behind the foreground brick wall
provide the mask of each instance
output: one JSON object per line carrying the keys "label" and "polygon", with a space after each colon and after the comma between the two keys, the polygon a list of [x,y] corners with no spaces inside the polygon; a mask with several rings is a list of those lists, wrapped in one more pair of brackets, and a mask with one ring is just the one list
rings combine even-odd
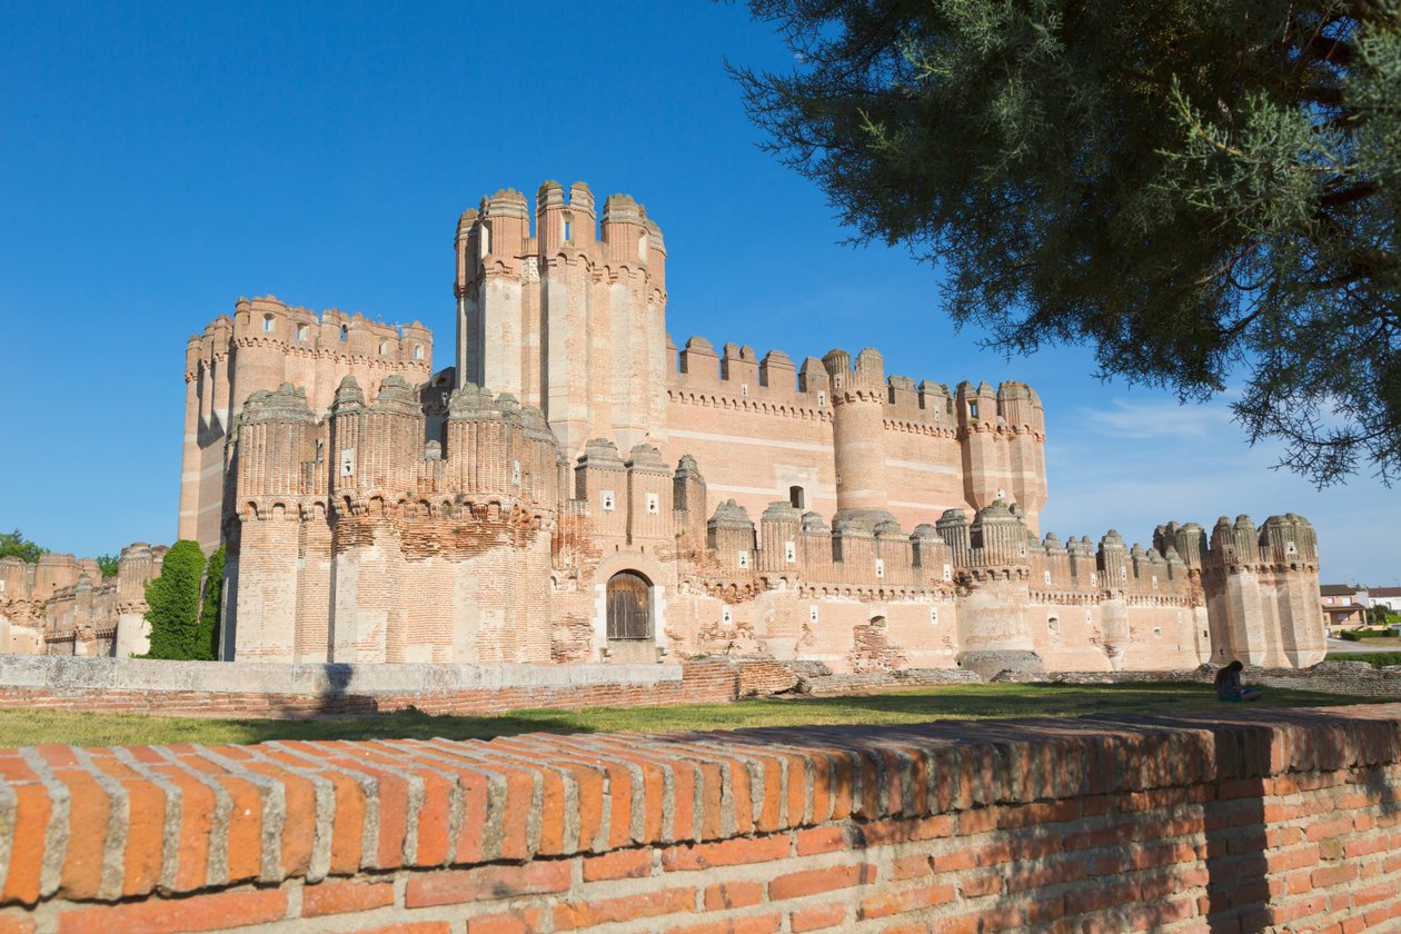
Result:
{"label": "strip of green grass lawn behind the foreground brick wall", "polygon": [[[1268,689],[1259,707],[1324,707],[1377,699]],[[1219,710],[1206,685],[950,685],[866,696],[744,700],[679,707],[518,710],[493,717],[394,713],[328,720],[198,720],[142,714],[0,710],[0,748],[62,742],[245,744],[268,739],[489,739],[521,732],[674,732],[801,724],[1076,717],[1101,713]],[[1231,713],[1240,707],[1231,706]]]}

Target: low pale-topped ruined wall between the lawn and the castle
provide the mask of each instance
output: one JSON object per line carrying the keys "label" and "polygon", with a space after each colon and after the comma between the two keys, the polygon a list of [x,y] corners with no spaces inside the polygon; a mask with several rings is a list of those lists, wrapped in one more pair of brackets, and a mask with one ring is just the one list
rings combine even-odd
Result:
{"label": "low pale-topped ruined wall between the lawn and the castle", "polygon": [[[1208,668],[1054,675],[1006,671],[992,679],[1068,685],[1196,682],[1206,696],[1212,674]],[[724,703],[780,693],[853,695],[981,681],[985,678],[968,668],[832,674],[818,662],[761,657],[695,658],[671,665],[230,665],[0,655],[0,707],[273,720],[396,710],[474,716],[524,709]],[[1306,671],[1247,668],[1245,682],[1267,689],[1401,700],[1401,667],[1324,662]]]}

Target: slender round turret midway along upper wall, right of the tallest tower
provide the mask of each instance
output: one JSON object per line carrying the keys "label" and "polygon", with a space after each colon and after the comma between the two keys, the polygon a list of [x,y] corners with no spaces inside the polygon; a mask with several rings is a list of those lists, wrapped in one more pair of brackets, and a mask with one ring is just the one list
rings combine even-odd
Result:
{"label": "slender round turret midway along upper wall, right of the tallest tower", "polygon": [[836,521],[874,528],[895,521],[885,494],[885,368],[866,347],[856,365],[831,350],[822,367],[832,381],[832,447],[836,456]]}

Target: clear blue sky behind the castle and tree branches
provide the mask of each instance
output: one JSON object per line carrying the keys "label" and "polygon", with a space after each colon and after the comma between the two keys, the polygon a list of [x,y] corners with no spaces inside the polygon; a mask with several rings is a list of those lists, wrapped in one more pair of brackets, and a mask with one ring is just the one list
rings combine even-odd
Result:
{"label": "clear blue sky behind the castle and tree branches", "polygon": [[188,335],[240,295],[419,319],[447,365],[462,209],[546,178],[629,192],[670,251],[668,329],[890,372],[1021,378],[1048,413],[1044,529],[1307,515],[1325,580],[1401,583],[1401,494],[1272,472],[1224,406],[1003,360],[937,270],[853,249],[755,148],[723,62],[787,67],[741,6],[0,6],[0,528],[95,555],[175,534]]}

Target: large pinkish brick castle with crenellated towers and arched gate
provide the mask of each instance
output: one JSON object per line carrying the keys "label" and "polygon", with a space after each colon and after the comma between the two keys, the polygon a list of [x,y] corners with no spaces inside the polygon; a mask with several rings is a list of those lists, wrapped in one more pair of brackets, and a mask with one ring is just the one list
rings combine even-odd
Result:
{"label": "large pinkish brick castle with crenellated towers and arched gate", "polygon": [[179,536],[227,545],[226,658],[1324,655],[1306,520],[1042,534],[1034,389],[888,375],[873,349],[678,349],[661,230],[626,195],[502,190],[454,248],[436,374],[419,323],[273,298],[191,339]]}

